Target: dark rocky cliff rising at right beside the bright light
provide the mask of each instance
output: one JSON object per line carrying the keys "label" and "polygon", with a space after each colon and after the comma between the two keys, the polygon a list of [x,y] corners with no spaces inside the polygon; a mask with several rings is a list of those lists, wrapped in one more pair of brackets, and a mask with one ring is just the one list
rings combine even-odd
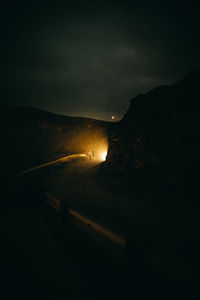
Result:
{"label": "dark rocky cliff rising at right beside the bright light", "polygon": [[200,166],[199,112],[200,70],[137,96],[112,132],[106,165],[143,188],[180,183]]}

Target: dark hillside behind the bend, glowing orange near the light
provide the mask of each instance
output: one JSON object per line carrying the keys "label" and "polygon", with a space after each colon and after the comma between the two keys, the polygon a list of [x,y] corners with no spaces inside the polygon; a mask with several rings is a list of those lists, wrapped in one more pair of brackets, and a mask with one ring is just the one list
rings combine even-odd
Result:
{"label": "dark hillside behind the bend, glowing orange near the light", "polygon": [[0,106],[2,176],[71,153],[93,149],[108,122],[69,117],[32,107]]}

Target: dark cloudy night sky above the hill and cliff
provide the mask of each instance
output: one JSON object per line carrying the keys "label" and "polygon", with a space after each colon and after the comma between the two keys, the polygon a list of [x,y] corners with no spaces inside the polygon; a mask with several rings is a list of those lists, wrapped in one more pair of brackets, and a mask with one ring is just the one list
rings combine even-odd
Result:
{"label": "dark cloudy night sky above the hill and cliff", "polygon": [[0,23],[1,104],[120,119],[200,66],[192,1],[6,1]]}

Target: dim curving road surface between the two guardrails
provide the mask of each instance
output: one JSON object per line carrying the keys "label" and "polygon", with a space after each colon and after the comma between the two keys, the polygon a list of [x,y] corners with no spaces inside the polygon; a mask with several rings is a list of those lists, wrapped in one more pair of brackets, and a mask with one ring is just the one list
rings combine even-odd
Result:
{"label": "dim curving road surface between the two guardrails", "polygon": [[[54,171],[47,170],[43,179],[45,192],[59,199],[66,208],[78,211],[120,236],[131,233],[136,220],[147,220],[149,210],[141,205],[141,199],[133,201],[105,188],[106,178],[97,176],[99,166],[95,161],[77,159]],[[151,218],[155,220],[155,214]]]}

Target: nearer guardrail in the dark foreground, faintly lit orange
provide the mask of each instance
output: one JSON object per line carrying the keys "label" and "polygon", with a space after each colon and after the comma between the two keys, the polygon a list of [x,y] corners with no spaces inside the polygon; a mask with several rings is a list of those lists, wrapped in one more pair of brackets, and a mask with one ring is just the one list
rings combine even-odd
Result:
{"label": "nearer guardrail in the dark foreground, faintly lit orange", "polygon": [[159,274],[159,270],[165,267],[165,261],[160,257],[155,257],[155,255],[152,256],[152,249],[149,247],[151,243],[144,237],[135,235],[132,238],[124,238],[84,216],[71,208],[70,205],[69,207],[66,204],[63,205],[59,198],[49,193],[46,193],[45,196],[46,203],[57,213],[60,213],[61,218],[76,225],[82,232],[125,262],[128,272],[134,272],[137,280],[154,281],[154,276],[156,276],[156,280],[160,280],[157,274]]}

